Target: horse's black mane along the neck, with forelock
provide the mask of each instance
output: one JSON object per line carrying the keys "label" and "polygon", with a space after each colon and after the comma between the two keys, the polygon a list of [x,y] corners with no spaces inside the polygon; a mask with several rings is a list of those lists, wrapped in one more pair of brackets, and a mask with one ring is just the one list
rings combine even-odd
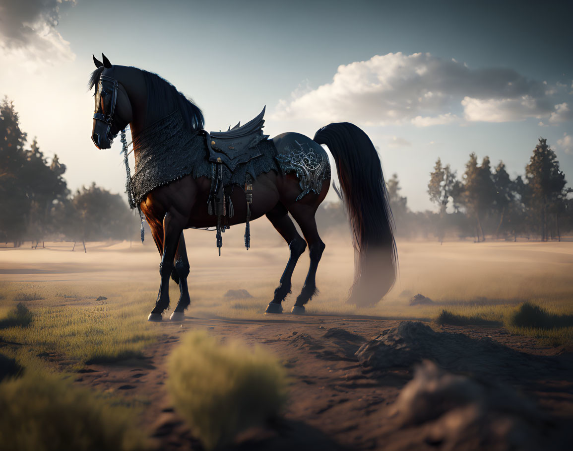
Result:
{"label": "horse's black mane along the neck, with forelock", "polygon": [[[88,81],[90,90],[95,87],[103,71],[104,67],[100,66],[92,72]],[[147,72],[143,69],[138,69],[138,71],[143,73],[146,83],[148,115],[152,111],[158,118],[163,118],[178,109],[187,127],[191,130],[203,129],[205,118],[203,118],[201,109],[193,103],[193,100],[187,98],[174,85],[156,73]]]}

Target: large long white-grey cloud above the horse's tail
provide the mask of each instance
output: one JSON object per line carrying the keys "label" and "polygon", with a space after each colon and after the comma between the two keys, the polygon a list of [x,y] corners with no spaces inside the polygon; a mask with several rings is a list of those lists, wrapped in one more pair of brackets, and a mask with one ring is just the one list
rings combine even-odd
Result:
{"label": "large long white-grey cloud above the horse's tail", "polygon": [[[332,82],[281,100],[273,119],[352,120],[366,126],[418,127],[463,122],[562,119],[563,88],[529,80],[513,69],[470,69],[430,53],[376,55],[340,65]],[[555,122],[554,119],[552,122]]]}

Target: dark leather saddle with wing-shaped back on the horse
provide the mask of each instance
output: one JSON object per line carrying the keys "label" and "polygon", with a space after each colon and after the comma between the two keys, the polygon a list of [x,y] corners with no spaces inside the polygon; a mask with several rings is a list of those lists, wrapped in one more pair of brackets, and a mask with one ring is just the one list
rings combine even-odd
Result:
{"label": "dark leather saddle with wing-shaped back on the horse", "polygon": [[223,163],[232,171],[237,165],[246,163],[262,152],[257,149],[257,144],[268,135],[262,133],[265,120],[265,108],[261,113],[241,126],[239,122],[232,129],[227,131],[211,131],[207,133],[207,147],[209,148],[209,161],[213,163]]}

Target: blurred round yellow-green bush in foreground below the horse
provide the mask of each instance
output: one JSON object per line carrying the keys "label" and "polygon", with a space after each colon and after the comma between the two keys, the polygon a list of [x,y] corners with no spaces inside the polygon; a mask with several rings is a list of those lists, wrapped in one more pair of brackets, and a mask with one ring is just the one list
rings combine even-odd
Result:
{"label": "blurred round yellow-green bush in foreground below the horse", "polygon": [[202,331],[183,337],[168,373],[175,409],[206,449],[275,417],[286,401],[285,372],[270,353]]}

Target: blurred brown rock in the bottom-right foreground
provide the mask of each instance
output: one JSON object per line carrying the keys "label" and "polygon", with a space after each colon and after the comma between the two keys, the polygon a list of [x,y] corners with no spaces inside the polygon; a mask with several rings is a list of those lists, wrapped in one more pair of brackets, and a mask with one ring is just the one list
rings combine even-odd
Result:
{"label": "blurred brown rock in the bottom-right foreground", "polygon": [[548,417],[512,387],[455,375],[427,360],[390,414],[395,429],[408,428],[410,445],[419,441],[442,450],[560,448],[554,448],[555,435],[548,437],[553,427]]}

